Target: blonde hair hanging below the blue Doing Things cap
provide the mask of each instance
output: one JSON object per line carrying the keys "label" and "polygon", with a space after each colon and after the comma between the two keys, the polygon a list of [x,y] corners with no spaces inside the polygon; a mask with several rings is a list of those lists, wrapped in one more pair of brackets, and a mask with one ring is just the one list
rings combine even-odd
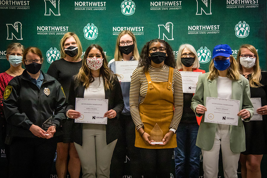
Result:
{"label": "blonde hair hanging below the blue Doing Things cap", "polygon": [[[236,62],[236,59],[231,55],[230,60],[232,59],[232,62],[230,63],[230,66],[227,70],[227,77],[231,80],[239,80],[240,74],[238,71],[238,63]],[[209,64],[209,75],[208,79],[214,80],[218,77],[219,72],[214,66],[214,59],[212,59],[211,63]]]}

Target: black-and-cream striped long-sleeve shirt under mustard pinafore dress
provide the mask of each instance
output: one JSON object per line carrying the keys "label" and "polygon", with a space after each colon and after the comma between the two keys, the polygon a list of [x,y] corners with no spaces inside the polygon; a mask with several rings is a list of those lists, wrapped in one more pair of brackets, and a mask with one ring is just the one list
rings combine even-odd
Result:
{"label": "black-and-cream striped long-sleeve shirt under mustard pinafore dress", "polygon": [[[144,126],[139,115],[139,104],[144,101],[148,88],[147,78],[142,70],[142,67],[135,69],[131,77],[130,112],[136,129]],[[149,66],[148,72],[152,82],[168,82],[169,66],[165,64],[161,68]],[[174,69],[171,89],[174,98],[174,115],[169,128],[177,129],[183,112],[182,77],[177,69]]]}

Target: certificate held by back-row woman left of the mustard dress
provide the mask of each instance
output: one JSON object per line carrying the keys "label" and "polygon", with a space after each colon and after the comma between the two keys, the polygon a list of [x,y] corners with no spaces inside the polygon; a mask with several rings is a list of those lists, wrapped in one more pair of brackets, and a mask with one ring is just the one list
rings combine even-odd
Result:
{"label": "certificate held by back-row woman left of the mustard dress", "polygon": [[138,66],[138,61],[116,61],[116,74],[121,82],[131,82],[134,69]]}

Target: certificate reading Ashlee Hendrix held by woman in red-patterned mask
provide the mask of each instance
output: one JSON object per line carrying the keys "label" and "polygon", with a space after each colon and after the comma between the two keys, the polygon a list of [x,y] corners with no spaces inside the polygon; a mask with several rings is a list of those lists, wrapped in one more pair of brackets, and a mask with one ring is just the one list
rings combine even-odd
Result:
{"label": "certificate reading Ashlee Hendrix held by woman in red-patterned mask", "polygon": [[107,124],[104,114],[108,110],[108,99],[76,98],[75,110],[81,116],[75,119],[76,123]]}

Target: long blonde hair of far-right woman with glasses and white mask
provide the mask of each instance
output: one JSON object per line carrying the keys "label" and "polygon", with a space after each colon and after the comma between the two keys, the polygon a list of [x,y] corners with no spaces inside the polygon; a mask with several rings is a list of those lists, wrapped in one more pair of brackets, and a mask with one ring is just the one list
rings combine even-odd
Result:
{"label": "long blonde hair of far-right woman with glasses and white mask", "polygon": [[260,70],[258,52],[254,46],[249,45],[249,44],[245,44],[239,48],[239,51],[238,51],[237,57],[236,57],[236,61],[239,64],[239,72],[240,72],[240,74],[243,73],[242,72],[242,65],[240,64],[240,55],[241,55],[241,49],[245,48],[245,47],[248,48],[256,56],[255,66],[253,66],[253,72],[252,72],[251,76],[249,77],[249,86],[251,86],[252,88],[257,88],[257,87],[262,86],[260,84],[260,80],[261,80],[260,71],[261,70]]}

